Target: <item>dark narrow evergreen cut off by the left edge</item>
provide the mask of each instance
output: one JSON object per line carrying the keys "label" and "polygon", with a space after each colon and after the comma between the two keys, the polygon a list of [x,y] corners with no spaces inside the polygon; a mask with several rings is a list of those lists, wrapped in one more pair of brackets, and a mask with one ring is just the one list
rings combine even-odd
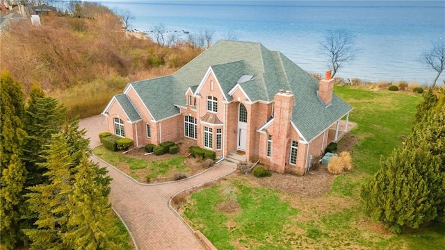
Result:
{"label": "dark narrow evergreen cut off by the left edge", "polygon": [[22,161],[26,138],[22,122],[24,94],[21,85],[6,70],[0,77],[0,234],[2,246],[13,249],[25,240],[20,231],[26,180]]}

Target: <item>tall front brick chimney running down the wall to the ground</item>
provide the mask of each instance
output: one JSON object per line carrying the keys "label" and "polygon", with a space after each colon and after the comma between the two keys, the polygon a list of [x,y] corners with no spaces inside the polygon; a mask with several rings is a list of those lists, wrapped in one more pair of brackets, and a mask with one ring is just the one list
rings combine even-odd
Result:
{"label": "tall front brick chimney running down the wall to the ground", "polygon": [[289,147],[291,135],[291,117],[295,96],[291,92],[280,90],[274,97],[272,125],[272,155],[271,168],[284,173],[284,167],[289,160],[286,148]]}

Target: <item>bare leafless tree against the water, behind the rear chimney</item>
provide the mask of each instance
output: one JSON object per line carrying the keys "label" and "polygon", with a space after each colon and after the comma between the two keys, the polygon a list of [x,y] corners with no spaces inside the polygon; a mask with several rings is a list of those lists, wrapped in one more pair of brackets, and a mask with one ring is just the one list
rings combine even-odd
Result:
{"label": "bare leafless tree against the water, behind the rear chimney", "polygon": [[329,58],[327,66],[332,67],[332,77],[345,63],[354,59],[357,53],[354,40],[354,35],[349,31],[337,29],[328,31],[325,35],[325,41],[320,42],[321,53]]}

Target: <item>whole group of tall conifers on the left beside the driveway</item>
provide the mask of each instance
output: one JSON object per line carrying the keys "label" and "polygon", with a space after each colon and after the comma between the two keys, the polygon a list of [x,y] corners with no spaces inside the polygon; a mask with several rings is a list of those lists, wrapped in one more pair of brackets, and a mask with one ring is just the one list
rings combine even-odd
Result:
{"label": "whole group of tall conifers on the left beside the driveway", "polygon": [[25,101],[9,72],[0,78],[1,247],[122,249],[110,217],[111,178],[89,160],[79,120],[37,86]]}

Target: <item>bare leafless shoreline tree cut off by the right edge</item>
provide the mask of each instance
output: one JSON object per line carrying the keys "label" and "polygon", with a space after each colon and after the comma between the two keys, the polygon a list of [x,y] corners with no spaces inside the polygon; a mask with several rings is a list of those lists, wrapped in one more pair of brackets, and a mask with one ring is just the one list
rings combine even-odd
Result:
{"label": "bare leafless shoreline tree cut off by the right edge", "polygon": [[420,61],[437,72],[437,76],[432,81],[432,87],[434,88],[437,79],[445,69],[445,42],[433,43],[430,51],[423,52]]}

